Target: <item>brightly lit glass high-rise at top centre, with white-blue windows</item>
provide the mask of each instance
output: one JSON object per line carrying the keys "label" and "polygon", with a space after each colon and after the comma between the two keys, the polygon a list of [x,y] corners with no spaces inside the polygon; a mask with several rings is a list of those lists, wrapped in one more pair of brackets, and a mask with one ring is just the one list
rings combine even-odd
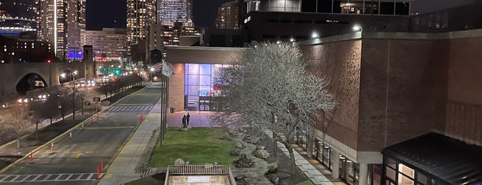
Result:
{"label": "brightly lit glass high-rise at top centre, with white-blue windows", "polygon": [[188,23],[192,26],[192,0],[159,0],[157,23]]}

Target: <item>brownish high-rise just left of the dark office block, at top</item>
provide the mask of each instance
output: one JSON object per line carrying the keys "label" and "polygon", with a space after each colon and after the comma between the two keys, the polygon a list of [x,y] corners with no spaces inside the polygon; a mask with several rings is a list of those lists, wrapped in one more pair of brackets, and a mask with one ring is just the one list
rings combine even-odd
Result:
{"label": "brownish high-rise just left of the dark office block, at top", "polygon": [[238,1],[223,3],[218,8],[214,28],[217,29],[238,29]]}

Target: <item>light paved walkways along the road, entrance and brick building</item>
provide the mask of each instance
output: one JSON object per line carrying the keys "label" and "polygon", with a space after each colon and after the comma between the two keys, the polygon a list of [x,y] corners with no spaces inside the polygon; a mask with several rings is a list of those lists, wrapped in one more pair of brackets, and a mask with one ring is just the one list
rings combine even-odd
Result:
{"label": "light paved walkways along the road, entrance and brick building", "polygon": [[[209,119],[210,112],[194,111],[180,111],[168,114],[168,126],[181,126],[182,117],[183,115],[187,115],[187,113],[190,113],[191,115],[190,126],[214,126]],[[137,173],[134,168],[141,162],[145,161],[144,153],[152,152],[152,148],[155,145],[155,141],[152,142],[152,137],[155,139],[159,134],[160,117],[160,102],[158,102],[152,111],[145,117],[145,120],[139,125],[139,128],[134,132],[128,143],[122,148],[121,153],[119,153],[117,158],[114,159],[112,165],[108,166],[108,171],[99,184],[124,184],[140,178],[139,173]],[[157,130],[157,132],[154,133],[154,130]],[[278,143],[277,145],[286,155],[288,155],[288,150],[283,144]],[[293,145],[293,147],[297,166],[314,184],[345,184],[341,179],[333,179],[331,177],[331,172],[317,159],[308,158],[306,152],[297,145]],[[156,169],[150,171],[148,175],[154,173],[157,173]]]}

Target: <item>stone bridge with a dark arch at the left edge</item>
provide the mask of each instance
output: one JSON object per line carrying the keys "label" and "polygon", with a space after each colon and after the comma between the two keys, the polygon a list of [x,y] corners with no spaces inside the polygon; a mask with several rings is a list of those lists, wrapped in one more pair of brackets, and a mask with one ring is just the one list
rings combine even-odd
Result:
{"label": "stone bridge with a dark arch at the left edge", "polygon": [[[11,101],[36,89],[60,86],[72,79],[90,77],[88,61],[0,64],[0,100]],[[73,76],[73,72],[77,75]]]}

